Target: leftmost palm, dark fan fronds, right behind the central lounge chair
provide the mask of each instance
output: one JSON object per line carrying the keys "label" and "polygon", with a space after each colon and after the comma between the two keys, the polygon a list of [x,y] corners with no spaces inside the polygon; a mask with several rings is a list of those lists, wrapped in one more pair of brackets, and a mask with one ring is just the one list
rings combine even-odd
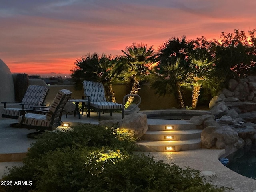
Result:
{"label": "leftmost palm, dark fan fronds, right behind the central lounge chair", "polygon": [[115,65],[118,62],[118,56],[111,56],[98,53],[87,54],[81,59],[76,60],[76,67],[72,70],[72,79],[77,88],[82,88],[82,81],[102,82],[106,93],[111,94],[112,102],[115,102],[114,91],[112,90],[112,81],[115,77]]}

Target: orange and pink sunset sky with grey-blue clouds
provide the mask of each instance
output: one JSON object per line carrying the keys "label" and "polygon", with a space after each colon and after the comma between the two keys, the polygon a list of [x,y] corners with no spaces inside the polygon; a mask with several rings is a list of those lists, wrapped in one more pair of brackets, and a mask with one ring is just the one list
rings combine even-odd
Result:
{"label": "orange and pink sunset sky with grey-blue clouds", "polygon": [[70,74],[88,53],[256,28],[255,0],[0,0],[0,58],[12,73]]}

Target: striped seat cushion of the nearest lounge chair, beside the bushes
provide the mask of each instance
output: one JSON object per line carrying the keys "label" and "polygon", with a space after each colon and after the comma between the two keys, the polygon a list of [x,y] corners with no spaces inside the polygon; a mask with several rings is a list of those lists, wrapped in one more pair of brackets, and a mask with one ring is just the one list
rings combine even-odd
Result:
{"label": "striped seat cushion of the nearest lounge chair, beside the bushes", "polygon": [[[21,123],[22,116],[19,116],[18,122]],[[46,119],[46,115],[27,113],[22,124],[33,126],[50,126],[50,120]]]}

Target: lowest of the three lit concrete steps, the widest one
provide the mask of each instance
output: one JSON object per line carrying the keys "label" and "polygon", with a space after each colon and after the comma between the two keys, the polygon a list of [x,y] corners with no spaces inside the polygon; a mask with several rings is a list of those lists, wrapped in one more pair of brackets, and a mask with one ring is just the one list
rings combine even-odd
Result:
{"label": "lowest of the three lit concrete steps, the widest one", "polygon": [[137,151],[175,152],[201,148],[201,139],[184,141],[138,141]]}

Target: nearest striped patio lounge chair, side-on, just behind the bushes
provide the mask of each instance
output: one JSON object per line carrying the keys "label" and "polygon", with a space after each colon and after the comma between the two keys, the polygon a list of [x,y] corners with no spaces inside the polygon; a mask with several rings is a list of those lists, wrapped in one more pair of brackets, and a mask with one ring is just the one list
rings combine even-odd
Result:
{"label": "nearest striped patio lounge chair, side-on, just behind the bushes", "polygon": [[48,111],[22,110],[23,114],[18,118],[20,128],[54,130],[60,126],[63,108],[71,94],[70,90],[59,90]]}

